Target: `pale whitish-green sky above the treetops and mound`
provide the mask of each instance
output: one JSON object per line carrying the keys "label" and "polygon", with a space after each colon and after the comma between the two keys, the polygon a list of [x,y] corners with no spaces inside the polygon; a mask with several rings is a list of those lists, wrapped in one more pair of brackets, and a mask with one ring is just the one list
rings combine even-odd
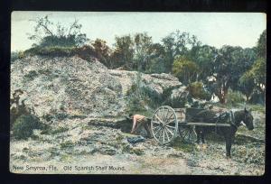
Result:
{"label": "pale whitish-green sky above the treetops and mound", "polygon": [[49,15],[53,23],[69,26],[75,18],[82,24],[81,32],[94,41],[97,38],[112,46],[116,36],[147,32],[154,42],[161,42],[171,32],[180,30],[198,37],[202,44],[220,48],[223,45],[254,47],[266,29],[262,13],[117,13],[117,12],[23,12],[12,13],[11,51],[31,48],[37,17]]}

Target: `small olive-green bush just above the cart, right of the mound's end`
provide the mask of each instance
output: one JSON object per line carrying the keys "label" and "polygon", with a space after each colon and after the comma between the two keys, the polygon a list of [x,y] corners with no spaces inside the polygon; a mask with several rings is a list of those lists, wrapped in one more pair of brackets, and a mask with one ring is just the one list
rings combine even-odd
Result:
{"label": "small olive-green bush just above the cart, right of the mound's end", "polygon": [[189,93],[192,97],[197,99],[210,100],[210,93],[208,93],[201,82],[193,82],[188,86]]}

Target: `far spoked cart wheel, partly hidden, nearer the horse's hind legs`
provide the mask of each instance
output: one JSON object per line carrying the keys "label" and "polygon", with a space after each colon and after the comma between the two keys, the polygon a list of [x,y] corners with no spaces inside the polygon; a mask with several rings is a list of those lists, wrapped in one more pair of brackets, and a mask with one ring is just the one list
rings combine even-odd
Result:
{"label": "far spoked cart wheel, partly hidden, nearer the horse's hind legs", "polygon": [[195,126],[182,125],[179,126],[179,132],[182,140],[186,143],[195,143],[197,141],[197,133],[195,132]]}

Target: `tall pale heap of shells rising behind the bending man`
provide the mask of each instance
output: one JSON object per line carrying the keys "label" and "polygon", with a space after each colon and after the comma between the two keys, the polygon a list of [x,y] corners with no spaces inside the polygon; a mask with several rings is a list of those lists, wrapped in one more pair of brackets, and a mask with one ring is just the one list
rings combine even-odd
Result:
{"label": "tall pale heap of shells rising behind the bending man", "polygon": [[[119,117],[126,113],[126,91],[136,71],[107,69],[98,60],[32,56],[11,65],[11,94],[47,121],[70,117]],[[143,85],[162,94],[182,83],[170,74],[142,74]]]}

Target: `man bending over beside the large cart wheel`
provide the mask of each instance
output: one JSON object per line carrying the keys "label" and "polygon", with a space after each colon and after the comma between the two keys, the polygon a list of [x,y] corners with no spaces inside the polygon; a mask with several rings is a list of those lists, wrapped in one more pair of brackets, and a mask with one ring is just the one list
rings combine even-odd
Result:
{"label": "man bending over beside the large cart wheel", "polygon": [[149,128],[149,121],[144,115],[129,115],[131,119],[133,119],[133,127],[131,130],[132,134],[135,134],[136,129],[140,126],[140,124],[144,125],[145,131],[147,133],[148,137],[152,137],[150,133],[150,128]]}

